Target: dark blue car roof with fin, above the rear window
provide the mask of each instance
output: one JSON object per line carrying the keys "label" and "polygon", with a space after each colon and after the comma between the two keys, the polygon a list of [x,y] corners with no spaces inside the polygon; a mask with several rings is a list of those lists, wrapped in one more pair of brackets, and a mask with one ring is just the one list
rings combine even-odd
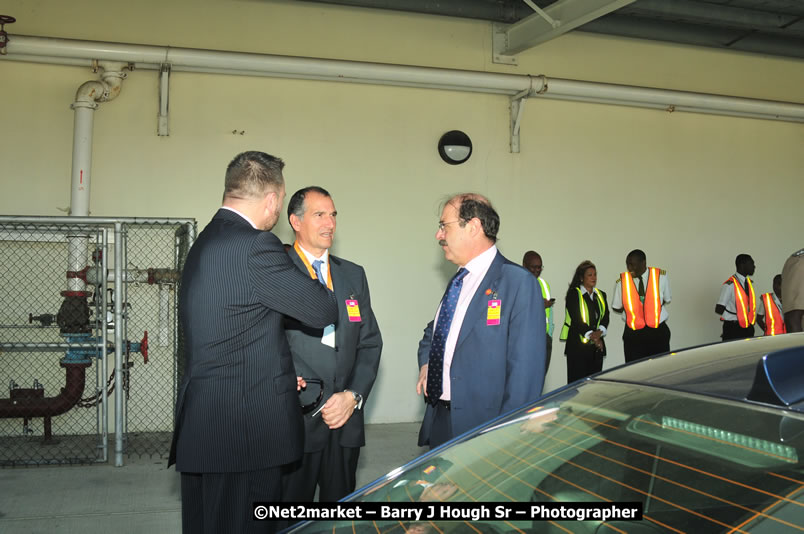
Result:
{"label": "dark blue car roof with fin, above the rear window", "polygon": [[714,343],[594,376],[804,412],[804,333]]}

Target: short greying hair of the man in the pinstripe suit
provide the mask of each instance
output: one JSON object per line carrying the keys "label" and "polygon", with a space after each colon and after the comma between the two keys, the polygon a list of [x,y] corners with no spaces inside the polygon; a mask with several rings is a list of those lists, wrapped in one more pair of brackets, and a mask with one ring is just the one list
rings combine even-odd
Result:
{"label": "short greying hair of the man in the pinstripe suit", "polygon": [[284,161],[265,152],[251,150],[238,154],[226,167],[224,200],[256,199],[278,192],[285,185],[284,168]]}

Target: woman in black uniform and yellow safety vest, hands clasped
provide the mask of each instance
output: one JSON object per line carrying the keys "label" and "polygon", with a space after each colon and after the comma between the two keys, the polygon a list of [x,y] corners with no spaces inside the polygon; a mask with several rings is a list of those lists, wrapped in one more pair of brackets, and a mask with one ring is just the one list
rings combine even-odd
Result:
{"label": "woman in black uniform and yellow safety vest, hands clasped", "polygon": [[603,369],[609,304],[597,285],[597,269],[589,260],[575,269],[566,296],[566,313],[561,341],[566,341],[567,383]]}

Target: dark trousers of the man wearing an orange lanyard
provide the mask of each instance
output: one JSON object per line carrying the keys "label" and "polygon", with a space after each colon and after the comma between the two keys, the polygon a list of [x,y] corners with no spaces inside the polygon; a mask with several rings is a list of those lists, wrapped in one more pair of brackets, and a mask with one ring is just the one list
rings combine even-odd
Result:
{"label": "dark trousers of the man wearing an orange lanyard", "polygon": [[338,501],[355,490],[360,447],[341,447],[342,429],[329,431],[326,446],[304,454],[301,461],[282,473],[284,502],[313,502],[318,486],[319,502]]}

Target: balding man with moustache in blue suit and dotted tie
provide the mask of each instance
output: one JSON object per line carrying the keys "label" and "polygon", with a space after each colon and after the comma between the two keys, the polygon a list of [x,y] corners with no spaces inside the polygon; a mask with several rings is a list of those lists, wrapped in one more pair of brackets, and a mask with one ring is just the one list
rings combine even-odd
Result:
{"label": "balding man with moustache in blue suit and dotted tie", "polygon": [[437,447],[541,395],[542,290],[499,253],[499,228],[481,195],[456,195],[441,211],[435,237],[460,268],[419,342],[416,392],[427,402],[419,445]]}

